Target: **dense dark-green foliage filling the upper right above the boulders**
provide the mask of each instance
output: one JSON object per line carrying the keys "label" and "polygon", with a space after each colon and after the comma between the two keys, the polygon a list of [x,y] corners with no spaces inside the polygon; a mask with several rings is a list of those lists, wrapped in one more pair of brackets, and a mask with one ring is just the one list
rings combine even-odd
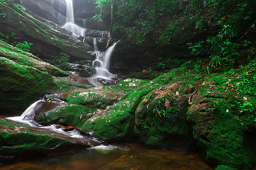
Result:
{"label": "dense dark-green foliage filling the upper right above the boulders", "polygon": [[[187,42],[195,56],[211,58],[211,66],[232,67],[238,49],[255,42],[255,1],[115,1],[97,0],[100,14],[110,19],[114,37],[134,37],[137,45],[175,45],[184,24],[195,24],[200,37]],[[249,58],[250,59],[250,58]]]}

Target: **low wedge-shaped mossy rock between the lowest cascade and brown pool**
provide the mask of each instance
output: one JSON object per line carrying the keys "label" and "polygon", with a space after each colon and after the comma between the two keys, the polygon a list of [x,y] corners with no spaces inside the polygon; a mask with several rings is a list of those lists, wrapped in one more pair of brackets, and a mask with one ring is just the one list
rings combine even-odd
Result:
{"label": "low wedge-shaped mossy rock between the lowest cascade and brown pool", "polygon": [[46,129],[0,120],[0,165],[31,156],[60,154],[97,145],[90,139],[80,140]]}

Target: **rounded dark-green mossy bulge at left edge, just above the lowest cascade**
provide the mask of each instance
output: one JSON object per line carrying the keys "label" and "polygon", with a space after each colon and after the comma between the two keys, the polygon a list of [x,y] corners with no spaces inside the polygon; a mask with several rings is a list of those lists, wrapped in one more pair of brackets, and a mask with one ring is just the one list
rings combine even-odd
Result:
{"label": "rounded dark-green mossy bulge at left edge, just above the lowest cascade", "polygon": [[38,96],[56,91],[51,75],[0,57],[0,108],[7,113],[24,111]]}

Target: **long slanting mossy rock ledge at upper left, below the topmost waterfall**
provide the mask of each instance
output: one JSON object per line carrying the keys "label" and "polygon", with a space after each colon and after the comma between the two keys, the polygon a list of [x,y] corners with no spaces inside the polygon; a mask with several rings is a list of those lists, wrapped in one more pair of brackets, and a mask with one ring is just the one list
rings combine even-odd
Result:
{"label": "long slanting mossy rock ledge at upper left, below the topmost waterfall", "polygon": [[0,3],[0,7],[6,14],[6,17],[2,18],[1,32],[10,37],[19,35],[20,41],[32,42],[32,53],[39,54],[44,59],[61,56],[62,52],[70,56],[71,60],[93,60],[92,55],[87,53],[92,48],[69,36],[72,35],[71,32],[39,16],[29,14],[30,11],[17,3]]}

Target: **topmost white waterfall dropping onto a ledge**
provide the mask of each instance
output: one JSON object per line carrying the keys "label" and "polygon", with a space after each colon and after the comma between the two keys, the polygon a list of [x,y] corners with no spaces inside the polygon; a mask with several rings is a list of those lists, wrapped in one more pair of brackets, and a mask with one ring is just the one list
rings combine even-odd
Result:
{"label": "topmost white waterfall dropping onto a ledge", "polygon": [[66,12],[67,19],[66,19],[66,23],[63,25],[63,28],[84,37],[86,29],[81,28],[75,24],[72,0],[65,0],[65,2],[67,5],[67,12]]}

